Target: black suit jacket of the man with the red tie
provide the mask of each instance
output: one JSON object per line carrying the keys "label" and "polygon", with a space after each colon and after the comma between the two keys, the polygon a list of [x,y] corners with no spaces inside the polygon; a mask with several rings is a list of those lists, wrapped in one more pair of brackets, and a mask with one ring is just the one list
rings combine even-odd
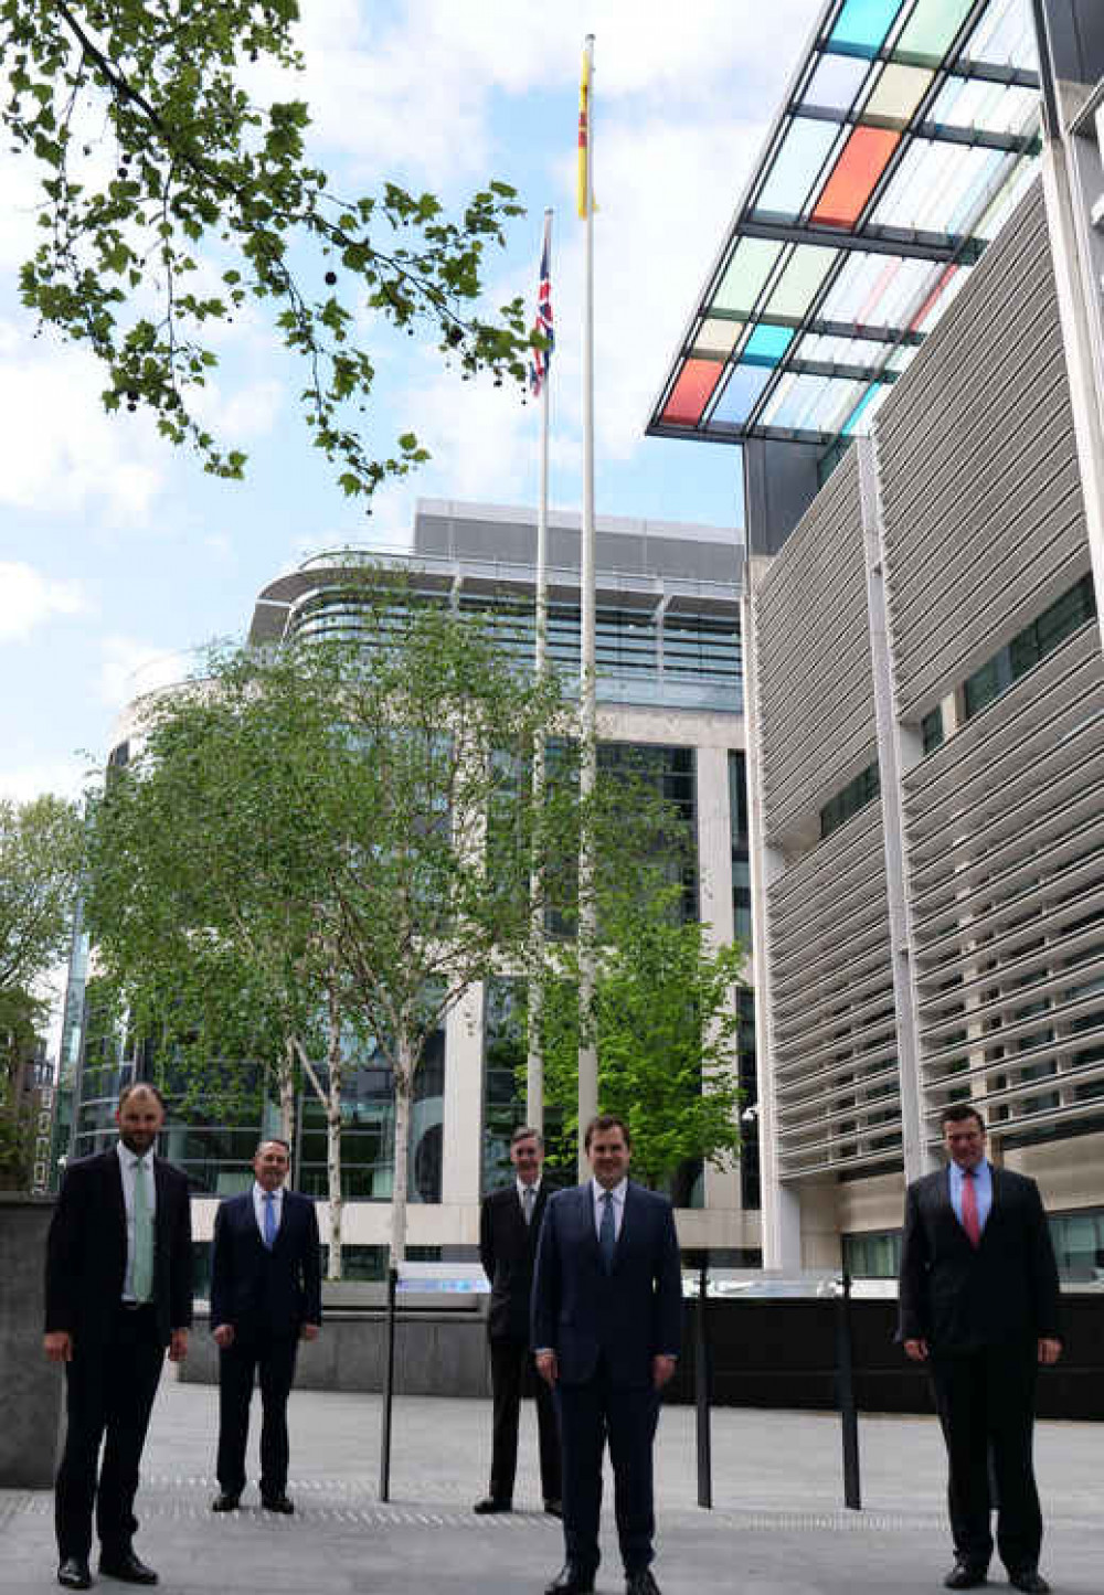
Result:
{"label": "black suit jacket of the man with the red tie", "polygon": [[900,1340],[932,1351],[1058,1338],[1058,1266],[1039,1187],[992,1171],[992,1209],[970,1246],[951,1204],[948,1169],[914,1180],[905,1198]]}

